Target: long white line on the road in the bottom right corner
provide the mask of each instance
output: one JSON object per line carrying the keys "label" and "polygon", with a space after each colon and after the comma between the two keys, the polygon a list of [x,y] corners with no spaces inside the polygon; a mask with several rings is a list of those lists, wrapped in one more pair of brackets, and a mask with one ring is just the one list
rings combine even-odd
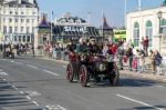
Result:
{"label": "long white line on the road in the bottom right corner", "polygon": [[127,100],[129,100],[129,101],[133,101],[133,102],[143,104],[143,106],[146,106],[146,107],[151,107],[151,108],[157,109],[157,110],[165,110],[165,109],[163,109],[163,108],[157,108],[157,107],[155,107],[155,106],[152,106],[152,104],[145,103],[145,102],[143,102],[143,101],[138,101],[138,100],[135,100],[135,99],[132,99],[132,98],[128,98],[128,97],[125,97],[125,96],[122,96],[122,94],[116,94],[116,96],[120,97],[120,98],[127,99]]}

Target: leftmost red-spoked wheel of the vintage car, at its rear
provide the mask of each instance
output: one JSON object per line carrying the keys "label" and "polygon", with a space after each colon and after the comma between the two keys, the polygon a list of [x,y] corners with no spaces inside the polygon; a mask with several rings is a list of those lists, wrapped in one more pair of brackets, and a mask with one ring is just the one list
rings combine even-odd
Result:
{"label": "leftmost red-spoked wheel of the vintage car, at its rear", "polygon": [[73,71],[73,66],[72,63],[69,63],[66,66],[66,79],[72,82],[74,78],[74,71]]}

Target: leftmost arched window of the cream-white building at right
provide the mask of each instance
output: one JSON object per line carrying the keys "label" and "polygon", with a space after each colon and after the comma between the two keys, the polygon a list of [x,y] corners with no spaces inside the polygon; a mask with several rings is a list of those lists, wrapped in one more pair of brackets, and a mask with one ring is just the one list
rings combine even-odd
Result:
{"label": "leftmost arched window of the cream-white building at right", "polygon": [[139,23],[135,22],[133,28],[134,46],[139,46]]}

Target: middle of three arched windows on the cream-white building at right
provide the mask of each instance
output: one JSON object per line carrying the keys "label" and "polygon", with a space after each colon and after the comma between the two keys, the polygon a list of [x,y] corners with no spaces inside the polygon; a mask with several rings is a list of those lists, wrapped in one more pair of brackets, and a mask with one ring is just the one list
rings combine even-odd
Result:
{"label": "middle of three arched windows on the cream-white building at right", "polygon": [[146,22],[146,37],[148,37],[148,46],[152,47],[153,24],[149,20]]}

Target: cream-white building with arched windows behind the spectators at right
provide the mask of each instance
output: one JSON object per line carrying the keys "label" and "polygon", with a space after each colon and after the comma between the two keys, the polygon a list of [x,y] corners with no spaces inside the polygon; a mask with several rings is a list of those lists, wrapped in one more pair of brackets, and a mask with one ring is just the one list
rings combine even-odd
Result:
{"label": "cream-white building with arched windows behind the spectators at right", "polygon": [[156,37],[166,34],[166,7],[127,13],[126,31],[126,40],[132,39],[136,47],[141,46],[142,37],[148,37],[149,49],[159,49]]}

